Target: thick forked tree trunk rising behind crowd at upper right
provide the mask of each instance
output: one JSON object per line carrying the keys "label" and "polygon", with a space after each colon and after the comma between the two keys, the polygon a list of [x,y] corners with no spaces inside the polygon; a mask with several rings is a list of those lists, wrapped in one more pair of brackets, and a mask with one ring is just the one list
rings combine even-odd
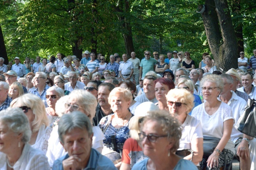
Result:
{"label": "thick forked tree trunk rising behind crowd at upper right", "polygon": [[236,69],[238,65],[234,52],[237,51],[237,41],[227,1],[205,0],[202,18],[217,67],[225,71]]}

